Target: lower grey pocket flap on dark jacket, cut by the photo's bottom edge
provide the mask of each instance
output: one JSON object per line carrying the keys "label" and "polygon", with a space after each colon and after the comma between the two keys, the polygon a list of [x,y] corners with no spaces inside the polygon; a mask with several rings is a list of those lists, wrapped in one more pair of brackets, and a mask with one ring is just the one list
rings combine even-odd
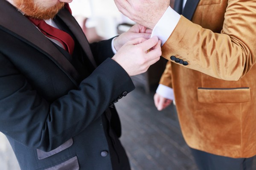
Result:
{"label": "lower grey pocket flap on dark jacket, cut by the photo's bottom edge", "polygon": [[45,170],[79,170],[77,156],[74,156],[67,161],[61,162],[60,164],[57,164],[54,167],[49,167]]}

